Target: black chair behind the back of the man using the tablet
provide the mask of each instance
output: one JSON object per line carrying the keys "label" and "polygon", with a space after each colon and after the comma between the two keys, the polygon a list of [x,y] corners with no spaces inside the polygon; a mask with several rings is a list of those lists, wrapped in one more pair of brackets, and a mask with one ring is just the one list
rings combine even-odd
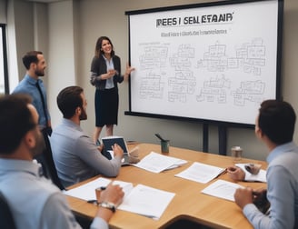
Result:
{"label": "black chair behind the back of the man using the tablet", "polygon": [[35,159],[38,163],[42,164],[45,177],[52,180],[53,184],[55,184],[60,190],[65,190],[63,184],[58,177],[57,170],[55,168],[55,163],[52,154],[51,144],[48,138],[48,135],[45,131],[42,131],[45,139],[45,150],[43,154],[38,154],[35,156]]}

